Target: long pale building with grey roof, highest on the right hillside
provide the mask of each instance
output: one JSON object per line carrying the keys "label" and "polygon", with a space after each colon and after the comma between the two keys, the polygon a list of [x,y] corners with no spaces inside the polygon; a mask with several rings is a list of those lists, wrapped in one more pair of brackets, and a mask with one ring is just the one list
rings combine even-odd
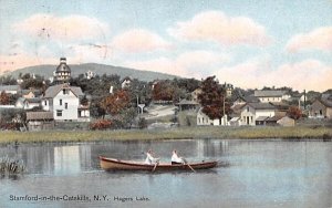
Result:
{"label": "long pale building with grey roof, highest on the right hillside", "polygon": [[268,91],[255,91],[255,96],[259,98],[262,103],[278,103],[282,102],[283,100],[289,100],[290,95],[286,91],[274,91],[274,90],[268,90]]}

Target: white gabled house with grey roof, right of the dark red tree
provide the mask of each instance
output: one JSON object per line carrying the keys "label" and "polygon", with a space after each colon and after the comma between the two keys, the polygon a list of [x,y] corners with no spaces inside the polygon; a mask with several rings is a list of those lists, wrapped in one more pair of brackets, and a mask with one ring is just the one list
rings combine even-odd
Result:
{"label": "white gabled house with grey roof, right of the dark red tree", "polygon": [[277,107],[269,103],[247,103],[241,108],[240,125],[255,126],[276,115]]}

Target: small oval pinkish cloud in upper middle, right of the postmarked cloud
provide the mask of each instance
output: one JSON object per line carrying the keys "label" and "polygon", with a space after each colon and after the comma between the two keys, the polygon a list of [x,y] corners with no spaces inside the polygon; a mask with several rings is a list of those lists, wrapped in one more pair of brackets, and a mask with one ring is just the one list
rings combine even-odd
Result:
{"label": "small oval pinkish cloud in upper middle, right of the postmarked cloud", "polygon": [[168,49],[170,44],[148,30],[133,29],[115,37],[112,46],[126,53],[141,53]]}

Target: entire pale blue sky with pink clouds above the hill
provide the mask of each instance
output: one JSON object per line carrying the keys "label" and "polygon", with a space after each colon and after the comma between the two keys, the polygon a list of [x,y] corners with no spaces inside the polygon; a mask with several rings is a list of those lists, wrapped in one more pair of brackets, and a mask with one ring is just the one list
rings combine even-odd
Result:
{"label": "entire pale blue sky with pink clouds above the hill", "polygon": [[332,0],[0,0],[0,74],[61,56],[323,92]]}

